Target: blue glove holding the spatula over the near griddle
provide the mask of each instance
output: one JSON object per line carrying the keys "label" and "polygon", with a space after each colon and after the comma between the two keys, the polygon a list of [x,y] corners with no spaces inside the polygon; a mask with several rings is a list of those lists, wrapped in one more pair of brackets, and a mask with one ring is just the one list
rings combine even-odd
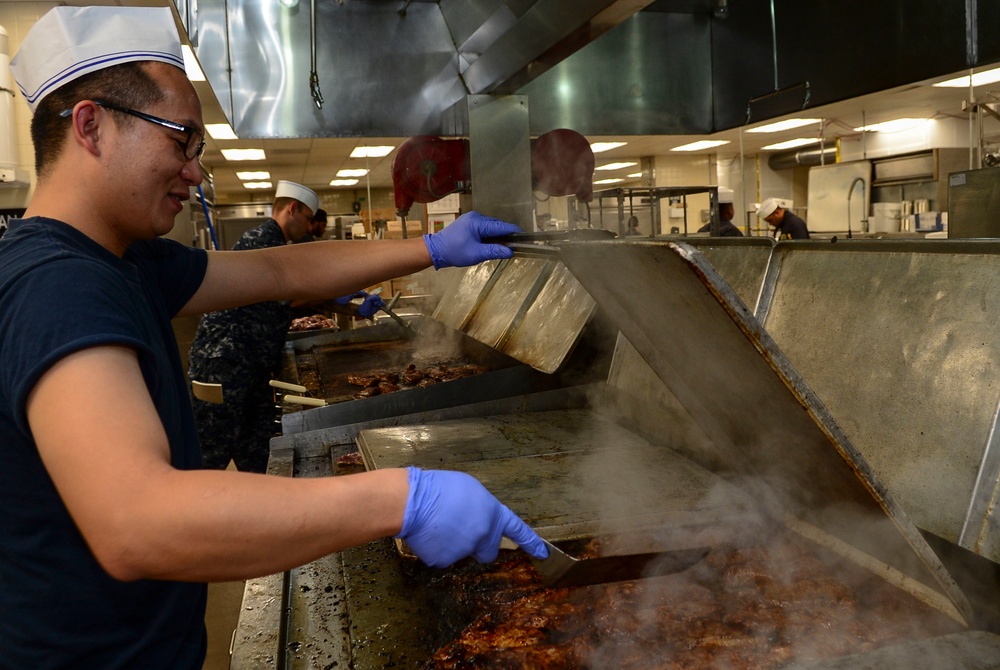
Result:
{"label": "blue glove holding the spatula over the near griddle", "polygon": [[396,537],[432,568],[466,556],[480,563],[494,561],[504,536],[535,558],[549,555],[538,534],[475,477],[411,467],[409,481],[403,529]]}

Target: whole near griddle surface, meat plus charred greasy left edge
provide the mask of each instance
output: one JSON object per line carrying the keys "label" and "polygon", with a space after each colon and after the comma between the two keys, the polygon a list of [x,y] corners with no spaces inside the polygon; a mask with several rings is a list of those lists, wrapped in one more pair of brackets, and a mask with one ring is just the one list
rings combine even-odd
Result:
{"label": "whole near griddle surface, meat plus charred greasy left edge", "polygon": [[521,551],[436,570],[388,540],[348,550],[351,667],[767,669],[963,630],[790,531],[757,524],[728,537],[683,573],[575,589],[544,587]]}

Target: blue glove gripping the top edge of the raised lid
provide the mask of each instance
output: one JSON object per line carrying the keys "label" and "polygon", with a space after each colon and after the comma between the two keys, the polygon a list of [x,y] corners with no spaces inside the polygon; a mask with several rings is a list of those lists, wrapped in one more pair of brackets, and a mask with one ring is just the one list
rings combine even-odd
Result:
{"label": "blue glove gripping the top edge of the raised lid", "polygon": [[514,252],[502,244],[483,244],[484,237],[500,237],[524,232],[513,223],[466,212],[441,232],[424,235],[434,269],[466,267],[483,261],[510,258]]}

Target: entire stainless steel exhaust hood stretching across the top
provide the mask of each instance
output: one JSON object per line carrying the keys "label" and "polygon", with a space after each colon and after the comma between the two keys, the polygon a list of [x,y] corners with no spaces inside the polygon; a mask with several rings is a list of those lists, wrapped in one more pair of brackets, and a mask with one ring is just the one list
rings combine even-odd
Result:
{"label": "entire stainless steel exhaust hood stretching across the top", "polygon": [[526,96],[532,134],[709,134],[1000,60],[995,0],[173,2],[243,138],[456,135],[484,94]]}

